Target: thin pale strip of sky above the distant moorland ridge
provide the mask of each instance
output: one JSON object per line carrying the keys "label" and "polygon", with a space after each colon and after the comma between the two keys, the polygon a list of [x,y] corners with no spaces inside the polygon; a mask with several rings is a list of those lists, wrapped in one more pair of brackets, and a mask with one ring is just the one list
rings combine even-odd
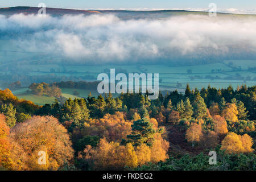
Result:
{"label": "thin pale strip of sky above the distant moorland ridge", "polygon": [[209,3],[215,3],[217,9],[256,9],[255,0],[0,0],[0,7],[38,6],[41,2],[47,7],[70,9],[208,9]]}

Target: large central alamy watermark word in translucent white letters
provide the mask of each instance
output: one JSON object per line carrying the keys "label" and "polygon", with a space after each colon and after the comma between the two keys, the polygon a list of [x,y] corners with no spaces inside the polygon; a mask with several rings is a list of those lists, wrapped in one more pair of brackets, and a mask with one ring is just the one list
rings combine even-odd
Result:
{"label": "large central alamy watermark word in translucent white letters", "polygon": [[[152,87],[152,73],[129,73],[128,74],[128,86],[127,75],[125,73],[118,73],[115,75],[115,69],[110,69],[109,75],[106,73],[100,73],[97,77],[98,93],[149,93],[148,98],[150,100],[156,100],[159,96],[159,73],[154,73],[154,88]],[[115,81],[117,84],[115,84]],[[141,84],[140,84],[141,82]],[[110,86],[109,86],[110,85]],[[109,89],[110,87],[110,89]]]}

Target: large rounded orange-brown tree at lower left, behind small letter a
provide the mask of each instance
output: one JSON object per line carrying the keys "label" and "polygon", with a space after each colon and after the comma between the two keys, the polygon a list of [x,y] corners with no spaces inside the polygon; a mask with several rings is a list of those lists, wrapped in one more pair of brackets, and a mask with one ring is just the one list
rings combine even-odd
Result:
{"label": "large rounded orange-brown tree at lower left, behind small letter a", "polygon": [[[21,146],[30,158],[26,161],[32,170],[56,170],[64,160],[71,161],[73,149],[67,130],[53,117],[35,116],[23,123],[18,123],[10,137]],[[45,151],[47,164],[39,165],[38,152]]]}

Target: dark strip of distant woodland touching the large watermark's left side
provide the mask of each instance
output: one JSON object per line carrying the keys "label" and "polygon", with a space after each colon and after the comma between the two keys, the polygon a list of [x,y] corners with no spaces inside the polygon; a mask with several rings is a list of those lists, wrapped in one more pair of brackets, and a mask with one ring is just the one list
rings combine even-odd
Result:
{"label": "dark strip of distant woodland touching the large watermark's left side", "polygon": [[53,82],[52,85],[55,85],[59,88],[72,88],[72,89],[90,89],[97,90],[98,81],[87,82],[87,81],[61,81]]}

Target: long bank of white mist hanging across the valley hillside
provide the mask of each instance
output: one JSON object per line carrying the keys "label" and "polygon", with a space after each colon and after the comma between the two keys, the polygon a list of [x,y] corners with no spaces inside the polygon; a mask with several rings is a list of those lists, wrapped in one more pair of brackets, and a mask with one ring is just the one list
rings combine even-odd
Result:
{"label": "long bank of white mist hanging across the valley hillside", "polygon": [[256,55],[256,18],[250,16],[122,20],[114,15],[42,18],[18,14],[0,16],[0,20],[0,38],[15,33],[10,39],[26,51],[88,63],[255,59]]}

